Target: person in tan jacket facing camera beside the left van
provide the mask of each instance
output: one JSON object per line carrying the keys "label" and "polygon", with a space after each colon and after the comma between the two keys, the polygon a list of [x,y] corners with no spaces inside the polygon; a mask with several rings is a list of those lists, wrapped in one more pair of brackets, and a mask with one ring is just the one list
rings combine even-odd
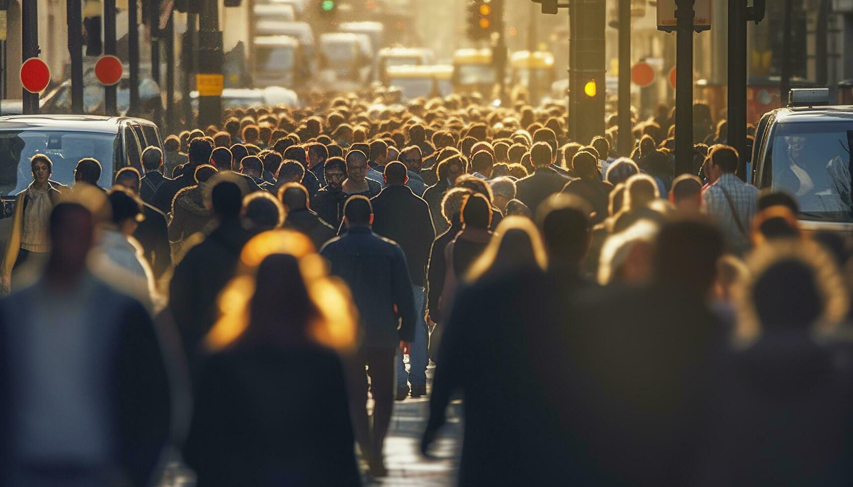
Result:
{"label": "person in tan jacket facing camera beside the left van", "polygon": [[13,287],[15,268],[31,258],[31,264],[44,263],[50,252],[48,220],[50,210],[59,201],[61,193],[49,180],[53,162],[48,156],[36,154],[30,159],[30,165],[32,183],[15,196],[12,231],[0,264],[0,292],[3,294],[9,293]]}

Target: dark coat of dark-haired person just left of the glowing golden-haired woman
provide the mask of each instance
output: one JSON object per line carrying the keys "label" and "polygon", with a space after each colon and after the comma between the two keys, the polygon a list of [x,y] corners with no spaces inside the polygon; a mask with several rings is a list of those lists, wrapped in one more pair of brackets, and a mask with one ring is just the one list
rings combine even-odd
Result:
{"label": "dark coat of dark-haired person just left of the glowing golden-haired woman", "polygon": [[239,220],[225,220],[204,241],[189,249],[175,267],[169,307],[190,359],[197,357],[201,340],[216,320],[217,297],[234,277],[240,252],[250,236]]}

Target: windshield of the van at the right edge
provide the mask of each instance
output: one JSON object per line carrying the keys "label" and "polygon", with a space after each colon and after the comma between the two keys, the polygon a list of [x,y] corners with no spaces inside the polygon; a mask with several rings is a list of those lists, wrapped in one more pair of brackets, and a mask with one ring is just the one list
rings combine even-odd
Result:
{"label": "windshield of the van at the right edge", "polygon": [[773,137],[773,188],[795,195],[804,217],[853,222],[853,121],[779,124]]}

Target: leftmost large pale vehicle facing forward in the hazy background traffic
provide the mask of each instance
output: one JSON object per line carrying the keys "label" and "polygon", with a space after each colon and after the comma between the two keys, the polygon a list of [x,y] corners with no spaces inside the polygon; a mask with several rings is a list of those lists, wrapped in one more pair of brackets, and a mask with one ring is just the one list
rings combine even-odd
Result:
{"label": "leftmost large pale vehicle facing forward in the hazy background traffic", "polygon": [[254,39],[252,79],[255,88],[283,86],[299,88],[310,77],[308,60],[299,41],[288,36]]}

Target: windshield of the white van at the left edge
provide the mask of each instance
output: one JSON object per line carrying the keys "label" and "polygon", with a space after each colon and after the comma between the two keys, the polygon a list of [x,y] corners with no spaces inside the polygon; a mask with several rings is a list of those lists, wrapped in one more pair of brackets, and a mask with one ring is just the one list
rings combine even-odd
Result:
{"label": "windshield of the white van at the left edge", "polygon": [[45,154],[53,161],[51,181],[74,183],[74,167],[84,157],[103,165],[98,185],[109,188],[113,177],[116,136],[60,130],[0,131],[0,195],[18,194],[32,183],[30,158]]}

